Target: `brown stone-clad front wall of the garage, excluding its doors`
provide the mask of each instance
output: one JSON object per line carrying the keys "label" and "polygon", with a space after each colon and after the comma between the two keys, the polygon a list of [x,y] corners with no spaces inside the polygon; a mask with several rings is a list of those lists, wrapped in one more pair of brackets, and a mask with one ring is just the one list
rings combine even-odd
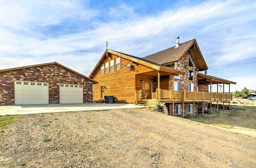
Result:
{"label": "brown stone-clad front wall of the garage, excluding its doors", "polygon": [[0,105],[14,104],[14,81],[49,83],[49,104],[59,103],[59,84],[83,85],[83,103],[93,102],[93,82],[56,64],[0,72]]}

